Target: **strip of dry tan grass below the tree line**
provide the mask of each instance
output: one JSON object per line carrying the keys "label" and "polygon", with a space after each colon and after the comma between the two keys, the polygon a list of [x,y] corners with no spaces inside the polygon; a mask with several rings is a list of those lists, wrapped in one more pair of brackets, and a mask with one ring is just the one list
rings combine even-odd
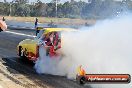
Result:
{"label": "strip of dry tan grass below the tree line", "polygon": [[70,19],[70,18],[50,18],[50,17],[11,17],[5,16],[6,20],[14,20],[20,22],[34,22],[38,18],[39,23],[50,23],[53,21],[56,24],[65,25],[84,25],[86,22],[88,24],[94,24],[95,20],[84,20],[84,19]]}

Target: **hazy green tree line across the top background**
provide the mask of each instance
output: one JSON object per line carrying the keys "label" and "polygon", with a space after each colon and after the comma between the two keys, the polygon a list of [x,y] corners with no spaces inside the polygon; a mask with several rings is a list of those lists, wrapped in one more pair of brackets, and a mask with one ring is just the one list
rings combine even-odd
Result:
{"label": "hazy green tree line across the top background", "polygon": [[117,16],[122,12],[132,11],[131,0],[88,0],[67,1],[52,0],[43,3],[37,0],[29,3],[29,0],[12,0],[12,2],[0,2],[0,15],[5,16],[31,16],[31,17],[59,17],[59,18],[106,18]]}

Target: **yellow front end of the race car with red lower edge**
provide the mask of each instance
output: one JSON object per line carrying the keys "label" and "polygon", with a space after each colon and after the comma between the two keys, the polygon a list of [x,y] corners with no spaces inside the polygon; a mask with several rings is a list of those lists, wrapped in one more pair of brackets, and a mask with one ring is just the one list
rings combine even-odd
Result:
{"label": "yellow front end of the race car with red lower edge", "polygon": [[23,58],[35,61],[38,57],[38,40],[25,39],[17,46],[18,55]]}

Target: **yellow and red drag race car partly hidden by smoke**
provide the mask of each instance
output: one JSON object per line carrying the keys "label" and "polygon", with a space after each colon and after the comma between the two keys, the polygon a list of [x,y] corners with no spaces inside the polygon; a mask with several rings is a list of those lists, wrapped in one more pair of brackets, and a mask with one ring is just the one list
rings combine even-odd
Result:
{"label": "yellow and red drag race car partly hidden by smoke", "polygon": [[46,47],[47,56],[58,56],[56,52],[61,48],[61,32],[75,31],[71,28],[37,28],[34,39],[25,39],[17,46],[18,55],[31,61],[36,61],[39,57],[39,46]]}

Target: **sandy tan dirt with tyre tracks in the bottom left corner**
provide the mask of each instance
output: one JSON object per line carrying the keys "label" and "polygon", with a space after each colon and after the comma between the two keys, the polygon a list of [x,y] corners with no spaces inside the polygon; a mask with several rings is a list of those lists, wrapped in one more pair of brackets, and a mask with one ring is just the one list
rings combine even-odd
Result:
{"label": "sandy tan dirt with tyre tracks in the bottom left corner", "polygon": [[0,85],[3,88],[47,88],[36,85],[33,80],[5,65],[0,59]]}

